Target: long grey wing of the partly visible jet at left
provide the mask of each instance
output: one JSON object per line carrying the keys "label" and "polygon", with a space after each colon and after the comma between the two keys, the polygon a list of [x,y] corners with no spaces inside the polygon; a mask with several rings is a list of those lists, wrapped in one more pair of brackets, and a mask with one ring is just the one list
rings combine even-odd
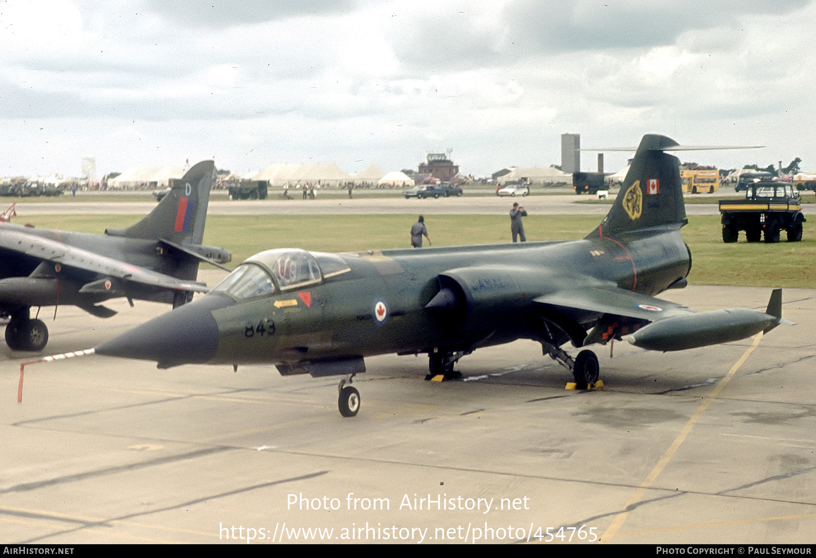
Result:
{"label": "long grey wing of the partly visible jet at left", "polygon": [[156,286],[169,290],[190,290],[206,293],[204,283],[176,279],[164,273],[155,272],[138,265],[125,263],[118,259],[95,254],[75,246],[48,238],[35,237],[16,230],[4,230],[0,234],[0,248],[12,250],[33,258],[42,259],[87,272],[115,277],[122,281],[133,281],[147,286]]}

